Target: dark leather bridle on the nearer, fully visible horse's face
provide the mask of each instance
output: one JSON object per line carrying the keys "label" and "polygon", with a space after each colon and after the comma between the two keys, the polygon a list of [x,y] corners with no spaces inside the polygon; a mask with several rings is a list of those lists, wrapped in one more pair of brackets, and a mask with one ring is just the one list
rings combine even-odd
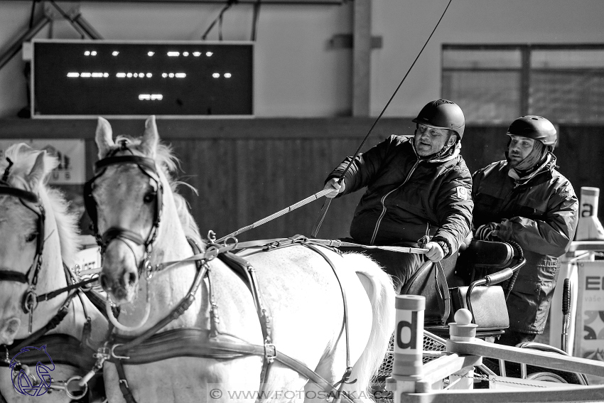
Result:
{"label": "dark leather bridle on the nearer, fully visible horse's face", "polygon": [[[95,163],[95,176],[87,181],[84,185],[84,205],[88,215],[90,216],[90,220],[92,222],[92,231],[95,233],[95,239],[97,240],[97,244],[101,247],[101,253],[107,248],[110,242],[113,240],[131,240],[136,245],[142,245],[145,248],[146,257],[142,259],[141,267],[139,269],[144,269],[149,267],[149,256],[151,255],[153,249],[153,242],[155,242],[158,229],[159,222],[161,220],[161,207],[162,207],[162,192],[163,188],[161,185],[161,179],[159,177],[156,163],[153,158],[148,158],[144,156],[136,156],[128,148],[128,141],[126,139],[122,139],[121,147],[119,149],[115,149],[112,153],[109,154],[106,158],[102,158],[101,160]],[[118,151],[129,151],[131,155],[122,155],[116,156]],[[122,227],[110,227],[103,234],[99,233],[98,227],[98,216],[97,216],[97,202],[95,198],[92,196],[92,191],[95,189],[95,181],[97,178],[103,175],[106,171],[107,166],[110,165],[119,165],[124,163],[134,163],[134,165],[138,166],[139,169],[146,175],[149,176],[151,181],[155,184],[156,187],[156,205],[155,205],[155,215],[153,217],[153,227],[149,231],[149,235],[147,235],[146,239],[143,239],[139,234],[134,231],[127,230]],[[126,245],[127,242],[126,242]]]}

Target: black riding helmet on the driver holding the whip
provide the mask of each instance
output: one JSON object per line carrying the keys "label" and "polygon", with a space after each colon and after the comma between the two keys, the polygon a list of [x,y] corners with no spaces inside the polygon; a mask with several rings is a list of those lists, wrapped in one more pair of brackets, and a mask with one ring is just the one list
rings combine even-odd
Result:
{"label": "black riding helmet on the driver holding the whip", "polygon": [[465,129],[465,118],[461,108],[455,102],[448,100],[428,102],[411,122],[433,127],[434,129],[453,130],[460,140]]}

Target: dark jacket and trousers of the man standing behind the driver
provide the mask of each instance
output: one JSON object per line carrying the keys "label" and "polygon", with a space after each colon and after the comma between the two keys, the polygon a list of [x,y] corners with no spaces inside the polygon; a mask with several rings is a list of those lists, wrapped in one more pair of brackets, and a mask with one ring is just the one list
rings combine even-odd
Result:
{"label": "dark jacket and trousers of the man standing behind the driver", "polygon": [[[506,161],[473,175],[473,224],[500,224],[500,238],[518,242],[527,259],[508,299],[510,328],[541,333],[559,272],[559,257],[573,240],[578,200],[573,186],[556,171],[552,154],[529,176],[508,176]],[[512,297],[512,296],[511,296]],[[523,302],[524,301],[524,302]]]}

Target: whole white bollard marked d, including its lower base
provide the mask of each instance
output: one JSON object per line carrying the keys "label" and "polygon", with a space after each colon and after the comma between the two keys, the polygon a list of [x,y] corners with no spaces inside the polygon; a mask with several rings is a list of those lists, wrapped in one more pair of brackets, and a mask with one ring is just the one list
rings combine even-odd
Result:
{"label": "whole white bollard marked d, including its lower base", "polygon": [[392,376],[386,389],[393,392],[394,403],[401,403],[402,392],[415,392],[416,381],[424,375],[424,310],[426,298],[419,295],[399,295],[394,333],[394,362]]}

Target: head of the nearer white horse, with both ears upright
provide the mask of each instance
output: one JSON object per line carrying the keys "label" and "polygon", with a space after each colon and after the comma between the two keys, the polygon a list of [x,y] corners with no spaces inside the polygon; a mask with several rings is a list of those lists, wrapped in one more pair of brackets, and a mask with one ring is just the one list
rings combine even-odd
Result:
{"label": "head of the nearer white horse, with both ears upright", "polygon": [[[102,247],[101,285],[115,303],[135,299],[141,265],[156,237],[163,187],[154,161],[158,139],[154,117],[147,119],[140,138],[122,136],[116,142],[109,122],[99,118],[96,143],[100,161],[85,197]],[[109,163],[100,166],[103,161]]]}

